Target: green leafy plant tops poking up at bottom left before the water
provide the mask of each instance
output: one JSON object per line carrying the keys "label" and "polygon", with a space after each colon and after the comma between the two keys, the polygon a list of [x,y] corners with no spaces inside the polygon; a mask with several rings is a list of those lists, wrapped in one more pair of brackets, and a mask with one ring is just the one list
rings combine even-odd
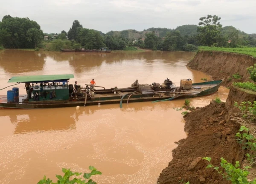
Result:
{"label": "green leafy plant tops poking up at bottom left before the water", "polygon": [[[56,183],[53,183],[52,180],[49,178],[46,179],[46,176],[44,175],[44,178],[41,179],[38,184],[96,184],[95,181],[90,179],[92,175],[101,175],[102,173],[98,171],[95,167],[89,166],[90,173],[84,173],[83,178],[76,178],[77,176],[81,175],[82,173],[73,173],[70,171],[70,169],[62,168],[62,172],[64,173],[64,176],[56,175],[56,178],[58,178],[58,181]],[[70,179],[71,176],[75,176],[73,179]]]}

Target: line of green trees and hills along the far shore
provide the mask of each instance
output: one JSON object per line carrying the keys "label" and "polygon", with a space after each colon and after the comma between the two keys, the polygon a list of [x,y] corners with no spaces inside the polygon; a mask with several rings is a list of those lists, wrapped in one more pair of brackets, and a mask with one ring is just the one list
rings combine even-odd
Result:
{"label": "line of green trees and hills along the far shore", "polygon": [[[107,46],[111,50],[123,50],[126,46],[137,46],[152,50],[164,51],[195,51],[198,46],[241,47],[256,46],[256,38],[242,34],[237,29],[222,28],[221,17],[207,15],[201,17],[199,26],[184,25],[177,29],[151,28],[145,30],[144,37],[137,40],[129,39],[129,32],[122,31],[114,35],[94,29],[86,29],[79,20],[74,20],[70,30],[59,34],[43,33],[41,27],[29,18],[11,17],[6,15],[0,22],[0,45],[5,48],[36,48],[45,47],[46,50],[59,51],[61,48],[98,49]],[[231,27],[231,26],[230,26]],[[180,31],[182,32],[180,32]],[[134,34],[137,34],[135,30]],[[48,36],[48,43],[43,42],[44,35]]]}

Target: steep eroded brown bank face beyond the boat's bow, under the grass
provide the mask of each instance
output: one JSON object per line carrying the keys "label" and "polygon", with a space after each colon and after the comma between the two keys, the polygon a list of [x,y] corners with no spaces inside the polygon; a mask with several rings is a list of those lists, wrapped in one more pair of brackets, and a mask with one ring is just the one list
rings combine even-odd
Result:
{"label": "steep eroded brown bank face beyond the boat's bow, under the grass", "polygon": [[[247,81],[249,74],[247,67],[253,66],[256,58],[228,52],[201,51],[192,59],[187,66],[211,75],[214,80],[224,79],[224,86],[229,86],[234,81]],[[239,73],[241,79],[232,78],[233,74]],[[232,78],[228,81],[228,78]]]}

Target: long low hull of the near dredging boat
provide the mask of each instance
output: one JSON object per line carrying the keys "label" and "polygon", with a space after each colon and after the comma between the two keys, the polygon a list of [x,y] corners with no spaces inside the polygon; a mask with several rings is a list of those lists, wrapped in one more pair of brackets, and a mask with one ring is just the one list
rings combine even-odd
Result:
{"label": "long low hull of the near dredging boat", "polygon": [[[209,89],[198,91],[195,95],[179,95],[175,99],[180,98],[194,98],[194,97],[200,97],[205,95],[211,95],[218,91],[218,88],[221,86],[222,80],[215,80],[215,81],[209,81],[204,83],[194,83],[192,86],[209,86],[214,85]],[[106,89],[106,91],[109,91],[110,89]],[[136,90],[136,89],[134,89]],[[110,93],[110,92],[109,92]],[[98,91],[98,94],[100,94],[100,91]],[[113,93],[112,93],[113,94]],[[160,96],[160,94],[162,94]],[[177,94],[176,94],[177,95]],[[127,95],[123,99],[123,103],[127,103],[128,101]],[[160,101],[160,100],[166,100],[169,98],[175,97],[175,94],[172,95],[164,95],[163,93],[151,93],[151,94],[139,94],[139,95],[133,95],[131,98],[129,98],[129,102],[146,102],[146,101]],[[101,105],[105,104],[115,104],[120,103],[120,100],[122,98],[122,95],[113,95],[113,96],[101,96],[101,97],[95,97],[93,98],[93,101],[90,101],[87,99],[86,106],[91,105],[98,105],[100,103]],[[34,103],[6,103],[0,101],[0,109],[46,109],[46,108],[61,108],[61,107],[73,107],[73,106],[84,106],[84,99],[80,99],[80,101],[52,101],[52,102],[34,102]]]}

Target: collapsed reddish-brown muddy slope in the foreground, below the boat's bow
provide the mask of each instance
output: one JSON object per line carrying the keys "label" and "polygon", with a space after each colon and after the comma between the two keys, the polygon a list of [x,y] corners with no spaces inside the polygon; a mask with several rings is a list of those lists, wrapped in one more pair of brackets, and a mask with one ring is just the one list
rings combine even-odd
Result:
{"label": "collapsed reddish-brown muddy slope in the foreground, below the boat's bow", "polygon": [[201,157],[211,157],[214,165],[219,165],[220,158],[234,164],[242,161],[244,152],[236,143],[235,134],[240,128],[227,117],[225,103],[211,102],[208,106],[186,115],[186,139],[179,141],[173,150],[173,159],[158,178],[159,184],[177,184],[179,181],[190,184],[229,184],[213,169],[206,169],[207,162]]}

